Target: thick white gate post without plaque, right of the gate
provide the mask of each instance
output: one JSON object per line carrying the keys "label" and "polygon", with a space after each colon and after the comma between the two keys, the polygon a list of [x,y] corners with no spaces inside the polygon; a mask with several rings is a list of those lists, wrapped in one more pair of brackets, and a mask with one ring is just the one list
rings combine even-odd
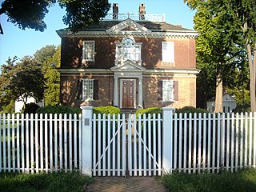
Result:
{"label": "thick white gate post without plaque, right of the gate", "polygon": [[173,114],[174,108],[162,108],[162,170],[172,172],[173,164]]}

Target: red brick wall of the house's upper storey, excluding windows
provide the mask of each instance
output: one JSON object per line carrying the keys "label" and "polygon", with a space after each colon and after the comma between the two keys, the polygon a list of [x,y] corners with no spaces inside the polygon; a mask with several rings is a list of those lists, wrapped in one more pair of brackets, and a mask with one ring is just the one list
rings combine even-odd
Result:
{"label": "red brick wall of the house's upper storey, excluding windows", "polygon": [[[95,62],[82,64],[82,41],[95,41]],[[195,43],[194,39],[164,39],[164,38],[135,38],[142,42],[142,66],[152,68],[194,68]],[[174,42],[175,63],[162,65],[162,42]],[[122,42],[122,38],[62,38],[62,66],[110,68],[114,66],[115,42]]]}

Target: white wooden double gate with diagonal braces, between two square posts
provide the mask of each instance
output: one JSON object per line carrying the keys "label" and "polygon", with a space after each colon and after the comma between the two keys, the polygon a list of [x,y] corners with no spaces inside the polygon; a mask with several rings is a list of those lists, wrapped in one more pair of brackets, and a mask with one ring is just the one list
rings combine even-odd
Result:
{"label": "white wooden double gate with diagonal braces, between two square posts", "polygon": [[135,114],[94,114],[93,176],[161,175],[162,120]]}

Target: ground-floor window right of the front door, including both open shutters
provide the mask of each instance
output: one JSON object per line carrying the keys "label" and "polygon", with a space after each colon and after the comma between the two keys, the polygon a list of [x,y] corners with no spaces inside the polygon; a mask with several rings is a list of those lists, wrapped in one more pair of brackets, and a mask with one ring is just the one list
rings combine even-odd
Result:
{"label": "ground-floor window right of the front door, including both open shutters", "polygon": [[158,81],[158,101],[178,101],[178,82],[170,79]]}

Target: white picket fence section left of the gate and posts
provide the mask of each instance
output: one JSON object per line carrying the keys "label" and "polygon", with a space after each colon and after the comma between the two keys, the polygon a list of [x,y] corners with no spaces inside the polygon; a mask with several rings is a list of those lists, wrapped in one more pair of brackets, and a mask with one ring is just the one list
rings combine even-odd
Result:
{"label": "white picket fence section left of the gate and posts", "polygon": [[0,114],[0,171],[82,169],[82,116]]}

